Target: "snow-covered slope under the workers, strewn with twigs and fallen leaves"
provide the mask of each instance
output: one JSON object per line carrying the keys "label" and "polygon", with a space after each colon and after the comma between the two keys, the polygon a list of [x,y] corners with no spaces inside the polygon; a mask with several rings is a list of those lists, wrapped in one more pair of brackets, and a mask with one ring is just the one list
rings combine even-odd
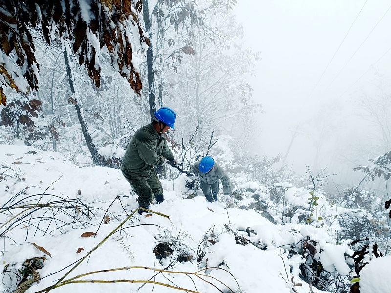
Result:
{"label": "snow-covered slope under the workers, strewn with twigs and fallen leaves", "polygon": [[[336,245],[327,225],[273,224],[254,209],[208,203],[201,193],[186,198],[185,175],[161,180],[165,201],[150,209],[162,215],[136,213],[119,228],[138,207],[120,170],[78,167],[59,153],[24,145],[0,145],[0,162],[3,292],[15,290],[13,272],[26,260],[44,258],[37,270],[41,280],[26,292],[39,292],[65,275],[66,283],[81,274],[122,268],[79,276],[51,291],[308,293],[309,285],[299,277],[303,257],[287,253],[306,236],[319,242],[317,257],[328,272],[350,273],[344,253],[352,251],[347,244]],[[256,182],[242,184],[265,195]],[[308,201],[308,194],[303,196]],[[300,192],[286,197],[300,201]],[[247,227],[251,232],[244,232]],[[97,235],[81,237],[86,232]],[[159,261],[154,250],[164,242],[173,253]],[[177,261],[178,256],[188,261]],[[292,277],[302,285],[293,286]]]}

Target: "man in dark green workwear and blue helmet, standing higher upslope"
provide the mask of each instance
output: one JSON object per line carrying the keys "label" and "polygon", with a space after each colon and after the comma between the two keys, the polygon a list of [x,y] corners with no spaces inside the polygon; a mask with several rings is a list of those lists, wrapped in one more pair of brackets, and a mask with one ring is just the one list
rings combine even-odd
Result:
{"label": "man in dark green workwear and blue helmet, standing higher upslope", "polygon": [[[174,129],[175,119],[172,109],[158,109],[152,123],[138,129],[126,148],[121,171],[138,195],[139,207],[148,209],[153,197],[159,204],[164,201],[163,188],[154,167],[167,162],[178,163],[164,135],[167,130]],[[140,215],[143,212],[146,211],[138,210]]]}

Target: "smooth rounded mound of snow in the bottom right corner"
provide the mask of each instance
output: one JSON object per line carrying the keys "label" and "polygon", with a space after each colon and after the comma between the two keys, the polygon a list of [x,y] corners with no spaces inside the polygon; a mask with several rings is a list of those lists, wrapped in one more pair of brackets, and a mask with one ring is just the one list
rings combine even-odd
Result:
{"label": "smooth rounded mound of snow in the bottom right corner", "polygon": [[391,256],[372,259],[360,271],[360,292],[379,293],[391,292],[390,282]]}

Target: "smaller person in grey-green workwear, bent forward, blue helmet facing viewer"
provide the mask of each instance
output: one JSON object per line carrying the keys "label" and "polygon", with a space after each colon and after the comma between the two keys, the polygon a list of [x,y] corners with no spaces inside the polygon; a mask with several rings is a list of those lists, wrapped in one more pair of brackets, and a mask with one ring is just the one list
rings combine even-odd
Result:
{"label": "smaller person in grey-green workwear, bent forward, blue helmet facing viewer", "polygon": [[232,196],[231,181],[227,173],[212,157],[205,156],[193,164],[189,170],[188,177],[194,179],[195,175],[199,176],[202,192],[208,202],[218,201],[219,180],[221,180],[223,185],[225,201]]}

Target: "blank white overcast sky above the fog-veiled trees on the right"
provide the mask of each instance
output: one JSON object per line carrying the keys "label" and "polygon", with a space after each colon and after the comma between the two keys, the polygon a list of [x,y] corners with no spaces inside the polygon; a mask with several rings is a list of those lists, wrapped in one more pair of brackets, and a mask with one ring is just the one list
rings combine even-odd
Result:
{"label": "blank white overcast sky above the fog-veiled trees on the right", "polygon": [[[238,0],[234,11],[246,45],[262,58],[252,82],[265,111],[262,154],[285,154],[289,129],[326,112],[326,105],[349,101],[351,107],[376,70],[390,77],[390,5],[389,0]],[[312,142],[301,136],[288,156],[298,170],[314,160],[313,149],[306,148]]]}

